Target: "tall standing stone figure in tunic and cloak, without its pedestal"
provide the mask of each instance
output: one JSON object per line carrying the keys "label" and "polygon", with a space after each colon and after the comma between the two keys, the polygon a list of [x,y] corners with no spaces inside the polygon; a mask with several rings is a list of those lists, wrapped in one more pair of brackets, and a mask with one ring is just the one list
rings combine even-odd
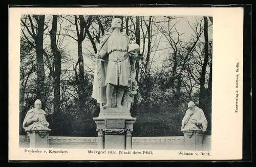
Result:
{"label": "tall standing stone figure in tunic and cloak, without its pedestal", "polygon": [[101,108],[130,109],[138,89],[135,62],[139,45],[131,44],[129,37],[120,29],[121,19],[114,18],[111,32],[102,37],[96,53],[92,97]]}

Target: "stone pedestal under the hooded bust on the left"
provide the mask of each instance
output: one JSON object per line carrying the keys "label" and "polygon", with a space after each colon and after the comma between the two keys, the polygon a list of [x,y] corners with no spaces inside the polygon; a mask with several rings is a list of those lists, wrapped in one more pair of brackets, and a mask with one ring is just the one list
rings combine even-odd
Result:
{"label": "stone pedestal under the hooded bust on the left", "polygon": [[31,148],[48,148],[49,147],[49,130],[33,130],[27,132],[29,136],[29,147]]}

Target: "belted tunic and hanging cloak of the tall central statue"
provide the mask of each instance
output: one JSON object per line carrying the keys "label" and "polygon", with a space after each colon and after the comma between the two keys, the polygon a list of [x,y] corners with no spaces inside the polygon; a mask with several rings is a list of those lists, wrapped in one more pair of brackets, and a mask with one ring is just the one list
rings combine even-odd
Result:
{"label": "belted tunic and hanging cloak of the tall central statue", "polygon": [[[106,33],[97,49],[97,54],[104,61],[96,61],[92,97],[98,103],[106,103],[106,84],[128,86],[131,73],[130,59],[125,57],[129,37],[123,33]],[[126,94],[124,93],[124,97]],[[112,98],[115,105],[116,97]]]}

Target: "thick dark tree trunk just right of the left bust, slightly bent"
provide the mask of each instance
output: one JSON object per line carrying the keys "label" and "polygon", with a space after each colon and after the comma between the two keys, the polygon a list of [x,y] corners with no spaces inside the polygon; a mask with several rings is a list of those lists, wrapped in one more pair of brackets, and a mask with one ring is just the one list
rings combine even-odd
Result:
{"label": "thick dark tree trunk just right of the left bust, slightly bent", "polygon": [[60,52],[57,47],[56,42],[56,33],[57,33],[57,21],[58,16],[53,15],[52,19],[52,29],[50,31],[51,37],[51,49],[54,56],[54,71],[53,71],[53,110],[54,110],[54,118],[60,114],[60,71],[61,71],[61,60],[60,60]]}

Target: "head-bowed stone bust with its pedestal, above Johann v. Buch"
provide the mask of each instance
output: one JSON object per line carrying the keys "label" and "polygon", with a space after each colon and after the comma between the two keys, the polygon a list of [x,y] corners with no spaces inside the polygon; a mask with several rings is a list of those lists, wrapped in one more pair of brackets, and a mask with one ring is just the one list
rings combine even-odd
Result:
{"label": "head-bowed stone bust with its pedestal, above Johann v. Buch", "polygon": [[187,148],[202,149],[204,132],[207,129],[207,120],[201,108],[193,101],[188,102],[188,109],[181,121],[181,131],[184,133],[184,142]]}

